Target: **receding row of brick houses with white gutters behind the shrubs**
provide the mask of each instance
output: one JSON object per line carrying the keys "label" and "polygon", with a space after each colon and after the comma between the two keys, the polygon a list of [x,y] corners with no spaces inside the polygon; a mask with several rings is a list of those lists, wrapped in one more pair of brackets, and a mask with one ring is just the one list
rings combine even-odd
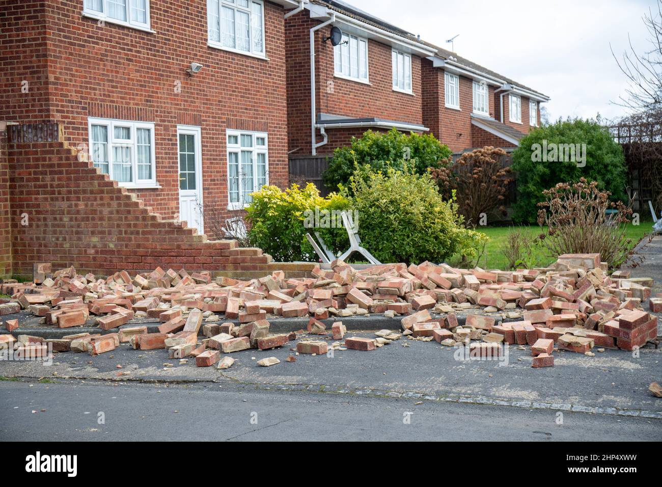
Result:
{"label": "receding row of brick houses with white gutters behind the shrubs", "polygon": [[[539,104],[549,101],[344,1],[310,0],[286,17],[288,145],[295,157],[330,154],[353,135],[391,127],[429,131],[453,152],[513,147],[540,125]],[[342,31],[339,46],[329,42],[332,27]]]}

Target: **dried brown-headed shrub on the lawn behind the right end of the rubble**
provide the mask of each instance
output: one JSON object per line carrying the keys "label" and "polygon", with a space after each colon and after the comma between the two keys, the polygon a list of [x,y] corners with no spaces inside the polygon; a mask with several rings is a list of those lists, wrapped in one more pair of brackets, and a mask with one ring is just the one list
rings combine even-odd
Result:
{"label": "dried brown-headed shrub on the lawn behind the right end of the rubble", "polygon": [[[559,183],[543,191],[538,224],[547,226],[542,246],[549,256],[561,254],[600,254],[602,262],[617,268],[630,255],[626,223],[632,209],[624,203],[610,203],[608,191],[598,189],[595,181],[582,178],[578,183]],[[606,214],[607,209],[616,213]]]}

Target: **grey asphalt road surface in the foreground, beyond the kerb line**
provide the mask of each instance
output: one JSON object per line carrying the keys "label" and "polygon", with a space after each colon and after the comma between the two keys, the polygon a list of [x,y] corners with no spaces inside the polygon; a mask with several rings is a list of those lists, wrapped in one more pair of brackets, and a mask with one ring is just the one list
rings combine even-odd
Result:
{"label": "grey asphalt road surface in the foreground, beyond the kerb line", "polygon": [[658,419],[416,402],[238,384],[3,381],[0,441],[655,441],[662,431]]}

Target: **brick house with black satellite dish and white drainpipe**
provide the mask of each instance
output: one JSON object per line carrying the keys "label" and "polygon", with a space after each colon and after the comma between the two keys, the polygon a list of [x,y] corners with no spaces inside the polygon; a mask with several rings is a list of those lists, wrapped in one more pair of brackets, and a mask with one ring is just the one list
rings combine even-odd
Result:
{"label": "brick house with black satellite dish and white drainpipe", "polygon": [[[434,48],[336,0],[312,0],[286,17],[290,154],[330,154],[368,129],[428,131],[421,66]],[[338,46],[332,27],[342,32]]]}

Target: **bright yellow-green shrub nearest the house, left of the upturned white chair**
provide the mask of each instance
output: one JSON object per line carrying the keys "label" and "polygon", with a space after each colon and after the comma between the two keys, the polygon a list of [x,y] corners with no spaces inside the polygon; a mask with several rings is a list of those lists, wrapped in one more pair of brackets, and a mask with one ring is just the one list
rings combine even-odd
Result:
{"label": "bright yellow-green shrub nearest the house, left of the upturned white chair", "polygon": [[246,208],[246,220],[250,225],[248,238],[252,246],[260,247],[277,262],[303,260],[318,262],[319,257],[308,243],[306,234],[320,233],[328,248],[333,252],[349,248],[347,232],[342,228],[307,228],[305,220],[316,207],[320,220],[330,217],[333,211],[349,209],[349,201],[342,195],[331,193],[321,197],[312,183],[305,188],[293,184],[284,191],[277,186],[263,186],[252,193],[253,201]]}

